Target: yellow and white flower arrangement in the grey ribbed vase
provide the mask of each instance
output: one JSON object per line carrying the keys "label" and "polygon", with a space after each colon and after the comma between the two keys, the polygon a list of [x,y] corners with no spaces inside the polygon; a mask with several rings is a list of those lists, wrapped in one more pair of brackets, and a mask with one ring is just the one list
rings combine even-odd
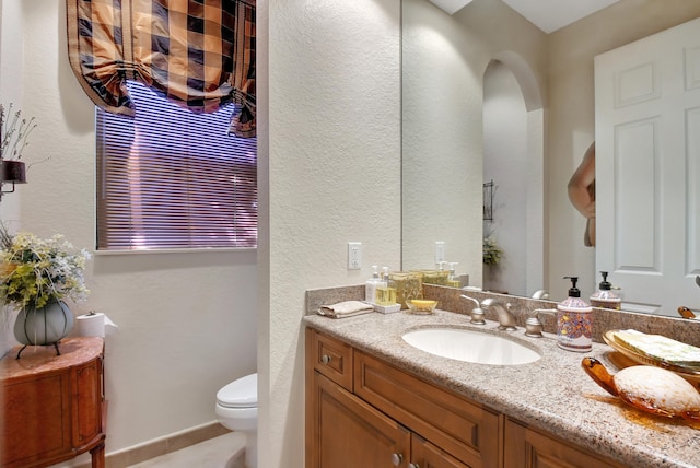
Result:
{"label": "yellow and white flower arrangement in the grey ribbed vase", "polygon": [[51,300],[88,297],[88,250],[78,250],[60,234],[40,239],[32,233],[12,236],[4,227],[0,231],[0,296],[7,304],[40,308]]}

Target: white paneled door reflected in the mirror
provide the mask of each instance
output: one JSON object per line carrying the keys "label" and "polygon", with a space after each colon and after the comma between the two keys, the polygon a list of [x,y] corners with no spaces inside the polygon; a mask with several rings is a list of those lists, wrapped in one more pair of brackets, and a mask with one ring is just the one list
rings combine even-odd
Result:
{"label": "white paneled door reflected in the mirror", "polygon": [[700,314],[700,19],[595,58],[596,268],[625,308]]}

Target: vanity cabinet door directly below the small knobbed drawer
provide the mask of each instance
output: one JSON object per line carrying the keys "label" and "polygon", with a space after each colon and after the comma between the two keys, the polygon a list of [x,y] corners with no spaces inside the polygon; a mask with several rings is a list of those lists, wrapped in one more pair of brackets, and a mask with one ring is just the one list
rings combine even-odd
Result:
{"label": "vanity cabinet door directly below the small knobbed drawer", "polygon": [[318,372],[312,372],[306,466],[407,468],[410,433]]}

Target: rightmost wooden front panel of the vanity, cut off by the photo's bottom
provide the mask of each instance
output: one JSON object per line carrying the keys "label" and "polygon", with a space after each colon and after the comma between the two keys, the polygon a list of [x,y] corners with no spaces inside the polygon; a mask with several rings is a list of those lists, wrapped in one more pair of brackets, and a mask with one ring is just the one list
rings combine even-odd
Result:
{"label": "rightmost wooden front panel of the vanity, cut off by the photo's bottom", "polygon": [[622,466],[514,421],[505,422],[505,468],[620,468]]}

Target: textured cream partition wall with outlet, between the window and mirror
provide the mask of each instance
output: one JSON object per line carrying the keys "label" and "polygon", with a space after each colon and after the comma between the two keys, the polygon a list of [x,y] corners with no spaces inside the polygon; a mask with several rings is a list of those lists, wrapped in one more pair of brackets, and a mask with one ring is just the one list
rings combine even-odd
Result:
{"label": "textured cream partition wall with outlet, between the window and mirror", "polygon": [[[268,8],[259,463],[302,467],[304,290],[363,282],[373,264],[399,268],[399,0]],[[361,271],[347,270],[348,241],[362,242]]]}

